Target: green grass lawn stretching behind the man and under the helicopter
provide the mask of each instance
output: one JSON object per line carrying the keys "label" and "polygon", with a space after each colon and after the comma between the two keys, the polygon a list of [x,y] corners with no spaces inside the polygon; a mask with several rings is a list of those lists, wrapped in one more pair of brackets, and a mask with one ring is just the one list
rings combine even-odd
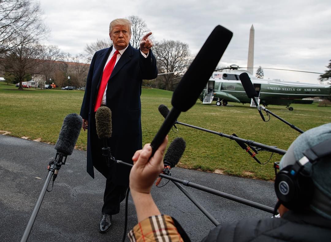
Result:
{"label": "green grass lawn stretching behind the man and under the helicopter", "polygon": [[[14,85],[0,83],[0,132],[8,135],[28,137],[42,142],[56,143],[64,117],[79,113],[83,91],[24,89],[18,91]],[[143,89],[142,129],[143,143],[150,142],[164,118],[158,111],[160,104],[171,108],[172,92],[159,89]],[[263,122],[254,108],[248,104],[217,107],[202,105],[198,100],[178,121],[207,128],[225,134],[236,133],[244,139],[287,150],[299,132],[271,117]],[[317,107],[317,104],[293,104],[294,111],[284,106],[268,106],[268,109],[297,127],[307,130],[331,122],[331,107]],[[179,132],[170,131],[169,141],[175,137],[186,140],[186,151],[177,165],[190,169],[201,169],[218,173],[272,180],[273,162],[281,155],[273,154],[265,165],[259,165],[233,140],[190,127],[177,125]],[[86,149],[87,132],[81,131],[77,148]],[[271,153],[263,151],[257,155],[261,163],[269,160]]]}

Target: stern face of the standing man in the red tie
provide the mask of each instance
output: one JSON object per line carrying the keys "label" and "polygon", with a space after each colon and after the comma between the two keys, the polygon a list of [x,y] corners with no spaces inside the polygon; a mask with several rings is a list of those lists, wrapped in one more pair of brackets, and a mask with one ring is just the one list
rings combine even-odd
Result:
{"label": "stern face of the standing man in the red tie", "polygon": [[113,41],[114,47],[117,50],[123,50],[130,42],[130,29],[127,25],[115,25],[112,32],[109,34]]}

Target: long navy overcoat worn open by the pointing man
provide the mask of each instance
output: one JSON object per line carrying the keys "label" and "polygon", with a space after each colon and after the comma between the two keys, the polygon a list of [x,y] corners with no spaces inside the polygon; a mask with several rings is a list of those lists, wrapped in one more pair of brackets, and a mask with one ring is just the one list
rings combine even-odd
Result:
{"label": "long navy overcoat worn open by the pointing man", "polygon": [[[96,134],[94,102],[101,82],[103,68],[113,46],[97,51],[87,75],[80,116],[88,120],[87,172],[94,178],[93,162],[102,159],[100,141]],[[117,160],[132,164],[132,156],[142,148],[141,85],[143,79],[154,79],[158,70],[150,50],[144,58],[140,50],[130,44],[122,54],[109,78],[106,92],[107,107],[112,111],[112,137],[108,140],[112,155]],[[104,159],[104,158],[103,158]],[[115,183],[128,184],[129,169],[123,165],[112,166]]]}

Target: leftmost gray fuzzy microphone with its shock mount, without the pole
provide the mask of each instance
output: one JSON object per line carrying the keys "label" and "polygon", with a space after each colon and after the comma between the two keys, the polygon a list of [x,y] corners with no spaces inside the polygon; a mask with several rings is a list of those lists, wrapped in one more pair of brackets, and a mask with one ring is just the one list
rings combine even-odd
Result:
{"label": "leftmost gray fuzzy microphone with its shock mount, without the pole", "polygon": [[[77,142],[83,119],[78,114],[68,114],[64,120],[54,149],[56,155],[48,165],[48,170],[55,166],[53,181],[56,179],[61,165],[65,165],[67,156],[71,155]],[[64,159],[64,160],[63,160]]]}

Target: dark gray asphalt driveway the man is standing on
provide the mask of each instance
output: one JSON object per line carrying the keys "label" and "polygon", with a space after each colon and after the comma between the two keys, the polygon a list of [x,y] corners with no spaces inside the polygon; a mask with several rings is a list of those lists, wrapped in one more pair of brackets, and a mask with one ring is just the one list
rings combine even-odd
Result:
{"label": "dark gray asphalt driveway the man is standing on", "polygon": [[[0,135],[0,240],[20,241],[54,158],[54,145]],[[209,172],[174,168],[174,177],[273,207],[273,183]],[[121,241],[125,203],[114,226],[106,234],[98,232],[105,178],[86,172],[86,152],[74,150],[62,166],[51,192],[46,192],[28,241]],[[51,184],[49,186],[51,188]],[[218,222],[244,218],[271,217],[271,214],[194,188],[185,189]],[[161,213],[176,218],[192,241],[200,241],[213,223],[172,183],[153,187],[153,197]],[[132,198],[128,201],[128,228],[137,222]],[[128,239],[127,239],[128,241]]]}

